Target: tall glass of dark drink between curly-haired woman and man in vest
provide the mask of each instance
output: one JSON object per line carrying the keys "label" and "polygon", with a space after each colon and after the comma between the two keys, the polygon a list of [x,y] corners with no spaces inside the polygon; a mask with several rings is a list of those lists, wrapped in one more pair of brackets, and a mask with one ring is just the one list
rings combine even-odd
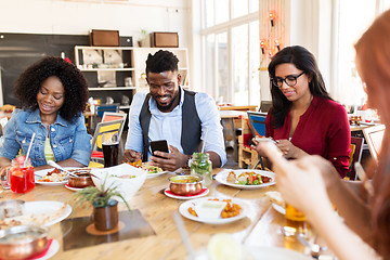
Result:
{"label": "tall glass of dark drink between curly-haired woman and man in vest", "polygon": [[102,134],[102,147],[104,157],[104,167],[118,165],[119,139],[118,132]]}

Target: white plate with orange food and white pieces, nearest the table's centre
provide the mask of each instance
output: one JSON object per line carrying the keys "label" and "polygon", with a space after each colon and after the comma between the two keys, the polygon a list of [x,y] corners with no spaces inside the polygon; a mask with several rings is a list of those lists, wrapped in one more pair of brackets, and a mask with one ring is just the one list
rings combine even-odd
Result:
{"label": "white plate with orange food and white pieces, nearest the table's centre", "polygon": [[202,223],[226,224],[245,218],[249,206],[238,198],[203,197],[181,204],[179,212]]}

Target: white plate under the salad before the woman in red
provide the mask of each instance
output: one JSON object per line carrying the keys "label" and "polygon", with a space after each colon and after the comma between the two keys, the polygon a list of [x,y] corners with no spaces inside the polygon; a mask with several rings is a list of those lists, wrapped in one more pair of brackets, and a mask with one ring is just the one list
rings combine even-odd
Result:
{"label": "white plate under the salad before the woman in red", "polygon": [[246,170],[229,170],[229,169],[225,169],[225,170],[219,172],[216,176],[216,181],[218,181],[219,183],[222,183],[224,185],[227,185],[227,186],[232,186],[232,187],[236,187],[236,188],[244,188],[244,190],[261,188],[261,187],[264,187],[264,186],[271,186],[271,185],[275,184],[275,181],[271,181],[271,182],[259,184],[259,185],[240,185],[240,184],[230,183],[230,182],[226,181],[226,178],[229,176],[229,172],[231,172],[231,171],[233,171],[237,177],[240,173],[244,173],[244,172],[255,172],[255,173],[258,173],[258,174],[261,174],[261,176],[271,177],[273,180],[275,180],[275,173],[273,173],[272,171],[251,170],[251,169],[246,169]]}

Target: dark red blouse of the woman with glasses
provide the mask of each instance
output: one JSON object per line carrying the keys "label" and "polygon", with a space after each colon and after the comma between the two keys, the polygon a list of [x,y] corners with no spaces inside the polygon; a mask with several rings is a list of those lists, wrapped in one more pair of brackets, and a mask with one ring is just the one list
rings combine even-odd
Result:
{"label": "dark red blouse of the woman with glasses", "polygon": [[[283,127],[271,127],[272,115],[265,118],[265,135],[274,140],[289,139],[291,116],[287,113]],[[300,117],[290,142],[310,155],[328,159],[344,177],[349,167],[351,132],[344,107],[334,101],[314,96]]]}

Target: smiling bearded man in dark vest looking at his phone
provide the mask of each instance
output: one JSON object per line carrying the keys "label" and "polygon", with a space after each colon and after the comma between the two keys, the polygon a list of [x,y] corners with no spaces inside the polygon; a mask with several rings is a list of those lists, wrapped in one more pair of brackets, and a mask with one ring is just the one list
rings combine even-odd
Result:
{"label": "smiling bearded man in dark vest looking at his phone", "polygon": [[[123,161],[151,160],[164,170],[187,166],[194,152],[204,151],[213,167],[226,161],[221,118],[212,98],[182,89],[178,57],[169,51],[148,54],[150,93],[133,96]],[[169,153],[151,154],[150,142],[167,140]]]}

